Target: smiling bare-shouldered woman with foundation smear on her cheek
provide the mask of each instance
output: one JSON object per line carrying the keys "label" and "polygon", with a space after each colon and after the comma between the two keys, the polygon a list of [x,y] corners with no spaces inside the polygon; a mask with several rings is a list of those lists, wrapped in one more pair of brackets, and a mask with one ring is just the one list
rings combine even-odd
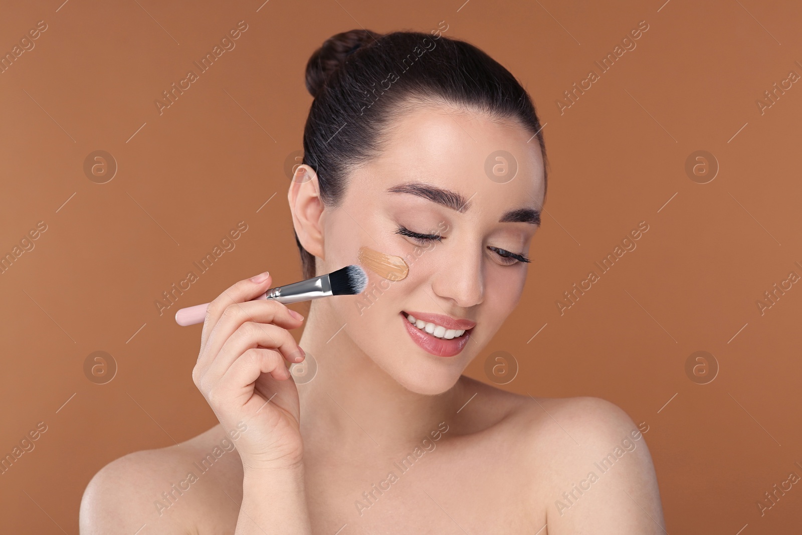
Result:
{"label": "smiling bare-shouldered woman with foundation smear on her cheek", "polygon": [[[305,278],[363,246],[405,258],[407,278],[371,273],[306,320],[249,302],[266,273],[225,290],[192,371],[220,425],[104,467],[81,533],[662,533],[624,411],[462,375],[516,307],[540,226],[545,145],[527,92],[439,31],[334,35],[306,87],[288,194]],[[299,347],[289,330],[305,322]]]}

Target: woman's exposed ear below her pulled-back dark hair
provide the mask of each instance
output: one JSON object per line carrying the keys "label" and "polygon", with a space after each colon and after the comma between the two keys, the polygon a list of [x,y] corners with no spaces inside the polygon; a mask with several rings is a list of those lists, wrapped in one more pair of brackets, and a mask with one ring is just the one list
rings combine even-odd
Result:
{"label": "woman's exposed ear below her pulled-back dark hair", "polygon": [[290,191],[287,192],[290,211],[293,214],[293,226],[298,234],[298,241],[303,248],[315,257],[325,260],[323,256],[322,215],[323,201],[320,198],[318,173],[309,165],[302,164],[295,169]]}

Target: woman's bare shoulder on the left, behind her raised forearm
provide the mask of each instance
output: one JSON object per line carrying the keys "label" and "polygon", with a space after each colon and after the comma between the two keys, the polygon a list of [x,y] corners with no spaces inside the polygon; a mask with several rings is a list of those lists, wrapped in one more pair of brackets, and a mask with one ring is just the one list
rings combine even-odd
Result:
{"label": "woman's bare shoulder on the left, behind her raised forearm", "polygon": [[197,523],[207,520],[202,513],[210,501],[218,504],[214,514],[225,517],[230,508],[221,490],[241,499],[236,484],[241,464],[236,449],[221,441],[225,444],[225,432],[216,426],[181,444],[132,452],[106,464],[83,492],[80,533],[137,533],[145,525],[147,533],[195,533]]}

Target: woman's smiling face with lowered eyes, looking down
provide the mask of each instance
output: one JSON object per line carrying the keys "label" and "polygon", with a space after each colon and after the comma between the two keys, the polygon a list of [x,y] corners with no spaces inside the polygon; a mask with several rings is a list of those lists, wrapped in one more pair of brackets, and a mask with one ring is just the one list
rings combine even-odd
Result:
{"label": "woman's smiling face with lowered eyes, looking down", "polygon": [[[409,274],[390,282],[368,272],[363,294],[321,309],[408,390],[447,391],[520,298],[527,263],[516,257],[529,257],[544,195],[540,145],[524,128],[446,107],[407,113],[383,155],[352,172],[342,205],[324,210],[317,262],[329,273],[367,246],[402,257]],[[416,312],[474,326],[441,340],[409,322]]]}

